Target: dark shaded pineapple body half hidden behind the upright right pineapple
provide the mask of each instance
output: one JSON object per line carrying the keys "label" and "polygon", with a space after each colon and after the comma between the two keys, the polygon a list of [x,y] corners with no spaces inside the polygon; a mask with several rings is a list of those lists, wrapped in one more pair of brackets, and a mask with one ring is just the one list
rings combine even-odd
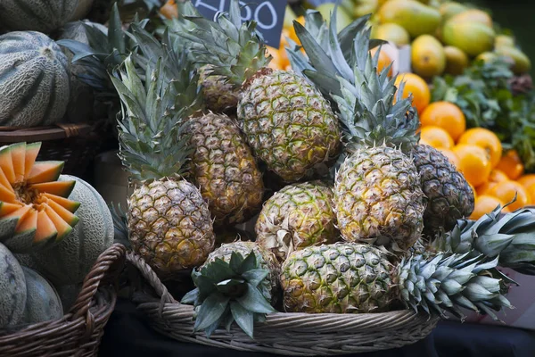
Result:
{"label": "dark shaded pineapple body half hidden behind the upright right pineapple", "polygon": [[424,191],[424,234],[434,237],[440,228],[449,231],[457,220],[473,212],[473,190],[449,159],[429,145],[412,150]]}

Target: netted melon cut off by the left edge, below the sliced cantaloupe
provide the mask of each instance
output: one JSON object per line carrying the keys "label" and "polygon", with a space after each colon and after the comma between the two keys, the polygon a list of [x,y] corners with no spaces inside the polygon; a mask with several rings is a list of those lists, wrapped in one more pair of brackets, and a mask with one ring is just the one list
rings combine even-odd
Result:
{"label": "netted melon cut off by the left edge, below the sliced cantaloupe", "polygon": [[0,244],[0,328],[17,325],[26,307],[26,278],[21,264]]}

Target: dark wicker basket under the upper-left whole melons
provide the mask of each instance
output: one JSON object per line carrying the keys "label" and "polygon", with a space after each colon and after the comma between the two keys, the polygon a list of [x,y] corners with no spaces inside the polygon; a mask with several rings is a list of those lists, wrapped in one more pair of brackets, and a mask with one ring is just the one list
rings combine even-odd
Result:
{"label": "dark wicker basket under the upper-left whole melons", "polygon": [[57,124],[29,129],[0,127],[0,145],[37,141],[42,143],[37,160],[64,161],[63,173],[82,179],[104,144],[96,126],[88,124]]}

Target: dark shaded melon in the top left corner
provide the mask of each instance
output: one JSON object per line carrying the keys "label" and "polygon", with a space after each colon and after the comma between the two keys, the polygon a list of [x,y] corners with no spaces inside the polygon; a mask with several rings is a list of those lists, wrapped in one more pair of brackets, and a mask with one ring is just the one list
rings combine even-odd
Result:
{"label": "dark shaded melon in the top left corner", "polygon": [[78,0],[2,0],[0,24],[4,29],[50,33],[70,20]]}

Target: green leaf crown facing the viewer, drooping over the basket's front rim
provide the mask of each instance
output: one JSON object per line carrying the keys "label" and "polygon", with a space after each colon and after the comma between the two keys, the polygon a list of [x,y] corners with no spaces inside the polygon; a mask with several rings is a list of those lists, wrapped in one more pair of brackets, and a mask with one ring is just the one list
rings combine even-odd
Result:
{"label": "green leaf crown facing the viewer, drooping over the basket's front rim", "polygon": [[210,337],[218,327],[229,331],[236,322],[252,338],[254,322],[276,312],[269,303],[269,289],[262,284],[268,274],[268,270],[260,269],[254,252],[246,257],[234,252],[229,262],[217,258],[201,270],[193,270],[197,287],[181,303],[193,303],[196,308],[194,330],[205,330]]}

